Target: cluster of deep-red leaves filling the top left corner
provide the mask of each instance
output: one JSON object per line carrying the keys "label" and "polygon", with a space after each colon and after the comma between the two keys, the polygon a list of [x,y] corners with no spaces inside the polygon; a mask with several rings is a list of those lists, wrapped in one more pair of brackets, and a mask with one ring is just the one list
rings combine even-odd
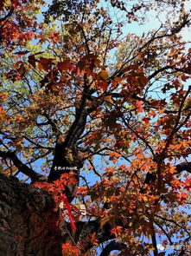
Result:
{"label": "cluster of deep-red leaves filling the top left corner", "polygon": [[[39,1],[41,5],[43,1]],[[3,46],[14,49],[16,44],[26,45],[35,37],[37,27],[35,11],[40,10],[34,0],[4,1],[0,6],[1,40]],[[31,12],[34,11],[34,16]]]}

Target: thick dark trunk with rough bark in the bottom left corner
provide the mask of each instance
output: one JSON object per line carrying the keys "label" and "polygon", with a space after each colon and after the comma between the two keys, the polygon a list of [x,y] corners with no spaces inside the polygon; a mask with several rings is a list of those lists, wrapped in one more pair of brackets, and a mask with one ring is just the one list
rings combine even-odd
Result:
{"label": "thick dark trunk with rough bark in the bottom left corner", "polygon": [[61,256],[51,196],[0,174],[0,256]]}

